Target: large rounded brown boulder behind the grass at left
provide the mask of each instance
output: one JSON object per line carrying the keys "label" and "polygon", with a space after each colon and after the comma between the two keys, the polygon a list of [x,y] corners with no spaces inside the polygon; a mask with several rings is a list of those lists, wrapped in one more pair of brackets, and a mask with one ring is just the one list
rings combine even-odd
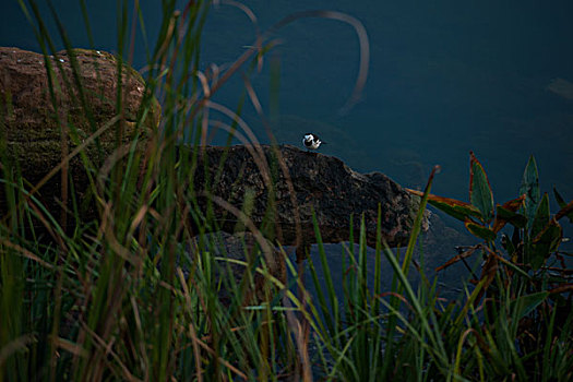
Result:
{"label": "large rounded brown boulder behind the grass at left", "polygon": [[[62,141],[63,126],[68,131],[76,129],[77,139],[85,138],[118,115],[116,110],[118,86],[117,59],[105,51],[75,49],[79,76],[74,77],[70,56],[60,51],[48,61],[52,68],[52,88],[57,112],[50,96],[45,58],[32,51],[0,47],[0,145],[17,165],[25,179],[36,184],[55,168],[75,146],[70,139]],[[132,68],[123,65],[122,91],[124,121],[122,142],[129,142],[135,132],[135,120],[145,93],[145,82]],[[82,83],[82,92],[76,86]],[[85,104],[82,104],[82,97]],[[85,105],[85,106],[84,106]],[[160,107],[156,99],[143,123],[143,132],[156,129]],[[89,110],[93,124],[86,118]],[[59,121],[58,118],[59,117]],[[96,168],[116,148],[116,128],[112,126],[86,147]],[[70,174],[80,198],[87,189],[87,177],[79,156],[70,163]],[[4,188],[0,188],[0,213],[5,212]],[[40,189],[41,199],[52,211],[59,210],[61,176],[55,176]],[[82,199],[79,199],[82,200]],[[53,207],[57,210],[53,211]]]}

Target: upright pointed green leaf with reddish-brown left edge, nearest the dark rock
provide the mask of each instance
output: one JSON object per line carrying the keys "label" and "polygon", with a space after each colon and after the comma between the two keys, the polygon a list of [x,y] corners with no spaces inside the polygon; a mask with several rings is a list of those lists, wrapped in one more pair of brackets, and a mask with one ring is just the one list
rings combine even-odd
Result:
{"label": "upright pointed green leaf with reddish-brown left edge, nearest the dark rock", "polygon": [[488,176],[473,152],[469,152],[469,202],[481,213],[482,222],[493,217],[493,194]]}

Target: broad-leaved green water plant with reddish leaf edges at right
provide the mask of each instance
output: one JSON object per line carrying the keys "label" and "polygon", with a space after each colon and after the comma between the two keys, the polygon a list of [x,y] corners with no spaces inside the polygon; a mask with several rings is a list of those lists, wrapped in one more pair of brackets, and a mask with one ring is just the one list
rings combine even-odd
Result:
{"label": "broad-leaved green water plant with reddish leaf edges at right", "polygon": [[[438,195],[428,195],[428,201],[464,222],[484,243],[466,248],[437,271],[461,261],[467,266],[466,258],[481,254],[481,274],[474,275],[471,305],[464,310],[481,311],[471,333],[479,336],[482,356],[496,360],[493,373],[564,380],[573,367],[566,339],[573,320],[569,313],[573,272],[564,259],[571,253],[560,250],[563,230],[559,222],[566,217],[573,223],[573,201],[565,203],[553,190],[560,210],[550,214],[549,196],[541,196],[537,165],[530,156],[520,196],[496,205],[482,165],[474,153],[469,156],[470,202]],[[503,232],[508,225],[513,228],[511,236]]]}

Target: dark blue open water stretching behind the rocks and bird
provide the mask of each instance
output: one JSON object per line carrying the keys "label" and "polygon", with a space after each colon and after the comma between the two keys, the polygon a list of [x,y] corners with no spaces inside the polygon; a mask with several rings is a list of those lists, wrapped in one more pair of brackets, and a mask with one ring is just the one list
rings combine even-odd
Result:
{"label": "dark blue open water stretching behind the rocks and bird", "polygon": [[[16,1],[3,2],[0,45],[38,50]],[[160,5],[140,3],[153,41]],[[244,3],[261,31],[293,12],[330,9],[358,19],[368,32],[368,82],[361,102],[345,115],[338,110],[351,93],[359,64],[354,29],[338,21],[307,19],[275,35],[282,44],[252,81],[268,110],[268,68],[272,59],[278,60],[279,115],[272,128],[279,143],[299,145],[302,133],[315,132],[329,142],[324,153],[361,171],[385,172],[410,188],[422,186],[439,164],[434,193],[463,200],[468,152],[474,151],[497,202],[517,195],[533,154],[542,190],[556,186],[566,200],[573,198],[572,1]],[[89,47],[80,5],[63,0],[53,5],[74,45]],[[117,50],[116,10],[110,0],[88,4],[95,48]],[[40,12],[62,48],[47,7]],[[204,29],[204,68],[236,59],[253,43],[254,31],[237,8],[214,8]],[[141,68],[141,33],[138,41],[134,67]],[[240,77],[229,82],[217,100],[235,106],[241,86]],[[264,141],[254,108],[247,107],[243,116]]]}

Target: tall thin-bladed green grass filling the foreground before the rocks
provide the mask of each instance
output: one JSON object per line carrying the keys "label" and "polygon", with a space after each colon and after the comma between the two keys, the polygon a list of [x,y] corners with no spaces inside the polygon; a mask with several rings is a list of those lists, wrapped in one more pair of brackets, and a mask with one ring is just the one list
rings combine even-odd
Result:
{"label": "tall thin-bladed green grass filling the foreground before the rocks", "polygon": [[[57,44],[36,2],[20,3],[37,32],[44,55],[56,55]],[[85,10],[85,3],[81,4]],[[217,175],[200,165],[207,129],[217,128],[229,132],[229,142],[236,138],[247,144],[263,174],[272,174],[272,166],[285,170],[284,164],[266,163],[256,138],[239,116],[241,105],[234,112],[211,98],[241,68],[249,72],[261,64],[274,41],[268,35],[259,35],[253,47],[225,72],[204,73],[199,65],[200,47],[210,3],[189,2],[180,11],[175,1],[166,0],[162,5],[164,17],[157,43],[153,47],[144,43],[147,88],[133,136],[122,140],[126,117],[120,88],[115,99],[118,115],[103,127],[97,126],[89,105],[77,99],[93,129],[91,140],[83,144],[76,141],[77,126],[62,128],[62,147],[68,150],[68,142],[76,145],[58,166],[60,172],[51,171],[49,177],[60,174],[67,179],[68,162],[80,157],[88,174],[94,219],[83,219],[89,203],[76,200],[73,182],[70,192],[62,191],[69,195],[70,207],[58,217],[36,196],[39,187],[28,184],[17,166],[2,158],[0,181],[5,189],[8,214],[0,225],[0,378],[572,378],[571,317],[558,325],[558,310],[546,310],[551,313],[536,321],[536,330],[544,333],[536,337],[542,338],[537,342],[540,347],[524,348],[518,341],[524,334],[522,319],[540,305],[550,305],[548,293],[530,294],[526,280],[497,270],[492,283],[499,294],[490,300],[478,298],[484,287],[479,282],[466,286],[466,294],[458,300],[445,301],[440,298],[437,280],[429,280],[419,267],[416,272],[421,282],[417,287],[409,283],[407,276],[416,264],[414,249],[433,174],[404,259],[382,242],[379,232],[373,288],[369,287],[371,262],[365,225],[354,232],[358,248],[348,246],[343,250],[342,270],[330,268],[320,227],[315,226],[319,255],[308,261],[315,289],[310,297],[298,274],[301,267],[293,264],[282,247],[275,248],[267,240],[272,229],[254,227],[248,208],[211,196],[208,184],[217,181]],[[118,72],[124,70],[123,62],[132,62],[138,25],[145,31],[139,2],[131,11],[129,7],[129,2],[118,1]],[[88,17],[84,15],[89,34]],[[277,23],[272,31],[302,16],[350,22],[363,43],[361,26],[336,12],[303,12]],[[59,26],[60,40],[73,57],[73,44],[56,10],[51,17]],[[94,38],[89,36],[89,40]],[[361,55],[358,91],[368,68],[363,63],[368,51]],[[76,73],[79,68],[74,65],[73,70]],[[56,94],[59,86],[81,89],[77,79],[65,79],[65,84],[50,82],[50,91]],[[243,99],[256,107],[256,95],[248,80],[244,94]],[[162,122],[159,129],[148,132],[143,126],[155,107],[154,96],[160,102]],[[351,97],[346,107],[353,102]],[[212,109],[223,110],[228,121],[212,122]],[[97,164],[86,148],[98,145],[98,134],[106,129],[117,134],[115,150]],[[182,147],[184,138],[191,143]],[[196,171],[207,175],[206,190],[195,190]],[[271,178],[266,180],[272,192]],[[212,204],[202,210],[199,199],[205,196]],[[213,204],[225,206],[252,234],[255,244],[244,244],[244,260],[227,256],[219,234],[208,234],[218,231]],[[285,262],[288,283],[270,273],[265,262],[268,256]],[[381,272],[383,259],[392,268],[387,275]],[[242,277],[232,275],[234,266],[242,270]],[[334,272],[343,273],[342,296],[336,293]],[[393,278],[390,290],[382,288],[385,277]]]}

